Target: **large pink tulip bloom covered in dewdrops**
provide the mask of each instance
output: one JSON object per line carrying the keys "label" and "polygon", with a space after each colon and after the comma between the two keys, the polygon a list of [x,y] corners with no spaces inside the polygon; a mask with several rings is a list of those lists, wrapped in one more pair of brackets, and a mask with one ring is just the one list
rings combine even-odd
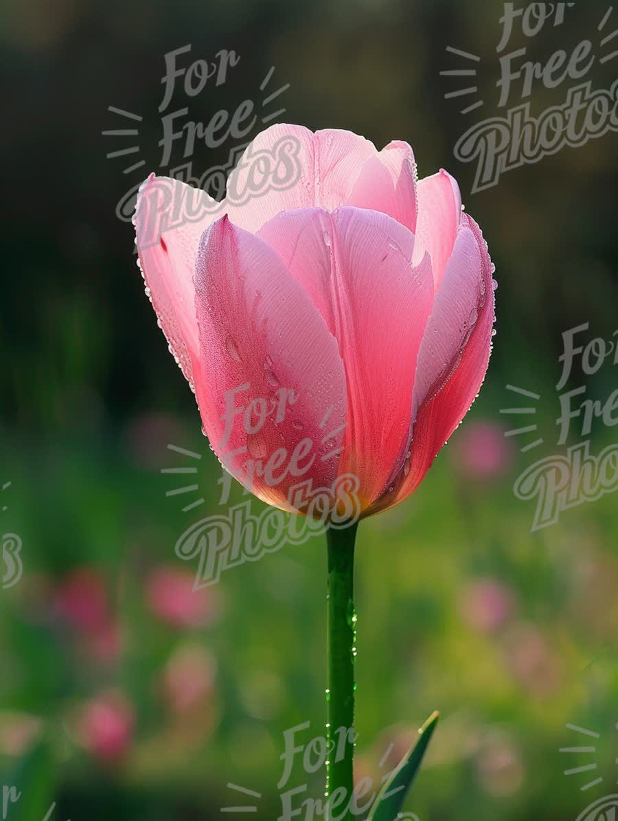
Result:
{"label": "large pink tulip bloom covered in dewdrops", "polygon": [[[441,171],[417,182],[405,142],[378,152],[349,131],[272,126],[245,152],[235,190],[250,158],[286,135],[299,146],[295,184],[244,204],[216,208],[203,191],[149,177],[135,218],[140,263],[228,470],[284,509],[301,479],[328,488],[354,475],[369,516],[418,487],[478,394],[493,266],[455,180]],[[230,396],[273,410],[280,388],[293,400],[284,415],[258,430],[239,415],[227,435]]]}

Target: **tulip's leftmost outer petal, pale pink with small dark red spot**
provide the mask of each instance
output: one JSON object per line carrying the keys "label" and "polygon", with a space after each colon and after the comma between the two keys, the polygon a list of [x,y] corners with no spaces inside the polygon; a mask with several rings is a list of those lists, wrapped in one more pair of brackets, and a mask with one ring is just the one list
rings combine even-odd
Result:
{"label": "tulip's leftmost outer petal, pale pink with small dark red spot", "polygon": [[136,245],[144,280],[170,349],[185,378],[199,371],[193,272],[199,237],[222,206],[203,190],[168,177],[149,177],[135,214]]}

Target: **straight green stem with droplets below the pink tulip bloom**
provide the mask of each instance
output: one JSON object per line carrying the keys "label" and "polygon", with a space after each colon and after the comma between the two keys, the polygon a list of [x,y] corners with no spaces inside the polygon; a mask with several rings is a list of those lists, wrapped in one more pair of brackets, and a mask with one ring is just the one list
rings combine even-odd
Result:
{"label": "straight green stem with droplets below the pink tulip bloom", "polygon": [[[328,689],[327,817],[346,821],[354,788],[354,663],[356,612],[354,608],[354,548],[358,522],[342,530],[328,527]],[[341,790],[343,788],[343,791]],[[335,795],[336,793],[336,795]],[[345,796],[345,797],[344,797]],[[339,809],[336,809],[339,808]]]}

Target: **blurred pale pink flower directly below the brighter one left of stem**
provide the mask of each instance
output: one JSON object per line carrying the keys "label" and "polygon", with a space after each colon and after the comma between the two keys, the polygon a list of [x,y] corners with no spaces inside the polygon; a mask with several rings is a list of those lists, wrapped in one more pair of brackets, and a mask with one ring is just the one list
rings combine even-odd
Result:
{"label": "blurred pale pink flower directly below the brighter one left of stem", "polygon": [[176,650],[163,672],[163,695],[172,713],[185,713],[213,694],[217,662],[201,647]]}

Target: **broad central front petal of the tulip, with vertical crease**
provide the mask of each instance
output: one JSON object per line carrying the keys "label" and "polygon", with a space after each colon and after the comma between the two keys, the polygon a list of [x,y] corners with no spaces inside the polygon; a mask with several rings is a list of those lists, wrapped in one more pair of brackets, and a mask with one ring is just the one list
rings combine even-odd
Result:
{"label": "broad central front petal of the tulip, with vertical crease", "polygon": [[336,337],[348,405],[339,470],[359,477],[368,506],[405,459],[416,357],[433,302],[429,258],[412,268],[410,231],[386,214],[352,207],[286,212],[259,236]]}

